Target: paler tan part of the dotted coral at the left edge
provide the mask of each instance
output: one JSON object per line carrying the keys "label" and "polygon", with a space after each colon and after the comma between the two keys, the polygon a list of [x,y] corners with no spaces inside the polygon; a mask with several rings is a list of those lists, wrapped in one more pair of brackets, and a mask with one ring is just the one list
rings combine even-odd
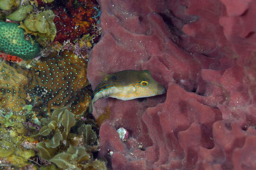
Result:
{"label": "paler tan part of the dotted coral at the left edge", "polygon": [[22,110],[26,105],[27,76],[23,69],[14,68],[6,61],[0,60],[0,108],[8,110]]}

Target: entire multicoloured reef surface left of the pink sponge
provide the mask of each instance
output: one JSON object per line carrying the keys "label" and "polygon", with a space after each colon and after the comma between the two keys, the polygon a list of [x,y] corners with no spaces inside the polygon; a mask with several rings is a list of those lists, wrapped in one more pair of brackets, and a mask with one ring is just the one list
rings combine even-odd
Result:
{"label": "entire multicoloured reef surface left of the pink sponge", "polygon": [[100,15],[96,0],[0,0],[1,170],[107,170],[86,111]]}

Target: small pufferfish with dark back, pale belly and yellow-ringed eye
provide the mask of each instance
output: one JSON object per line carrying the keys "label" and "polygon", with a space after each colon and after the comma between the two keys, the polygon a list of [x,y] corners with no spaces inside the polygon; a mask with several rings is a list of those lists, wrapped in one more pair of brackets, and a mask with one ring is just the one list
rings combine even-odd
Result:
{"label": "small pufferfish with dark back, pale belly and yellow-ringed eye", "polygon": [[166,92],[165,87],[157,83],[148,70],[123,70],[106,75],[92,93],[89,112],[93,103],[103,97],[113,97],[123,101],[142,97],[151,97]]}

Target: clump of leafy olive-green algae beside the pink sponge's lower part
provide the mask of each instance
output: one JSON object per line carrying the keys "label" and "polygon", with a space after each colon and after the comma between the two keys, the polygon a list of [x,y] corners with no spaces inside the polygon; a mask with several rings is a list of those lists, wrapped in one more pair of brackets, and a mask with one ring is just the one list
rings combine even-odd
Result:
{"label": "clump of leafy olive-green algae beside the pink sponge's lower part", "polygon": [[92,129],[94,125],[76,121],[68,107],[54,110],[42,122],[45,125],[35,137],[45,136],[47,139],[36,146],[39,157],[61,169],[107,170],[106,163],[95,160],[92,155],[98,149],[97,134]]}

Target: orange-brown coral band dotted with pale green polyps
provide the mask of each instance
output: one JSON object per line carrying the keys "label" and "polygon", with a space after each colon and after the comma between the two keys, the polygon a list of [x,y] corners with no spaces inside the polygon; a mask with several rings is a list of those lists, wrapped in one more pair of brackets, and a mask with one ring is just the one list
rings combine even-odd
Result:
{"label": "orange-brown coral band dotted with pale green polyps", "polygon": [[72,52],[50,54],[31,62],[30,68],[0,62],[0,108],[22,110],[27,103],[38,112],[69,106],[82,114],[91,102],[86,78],[87,63]]}

